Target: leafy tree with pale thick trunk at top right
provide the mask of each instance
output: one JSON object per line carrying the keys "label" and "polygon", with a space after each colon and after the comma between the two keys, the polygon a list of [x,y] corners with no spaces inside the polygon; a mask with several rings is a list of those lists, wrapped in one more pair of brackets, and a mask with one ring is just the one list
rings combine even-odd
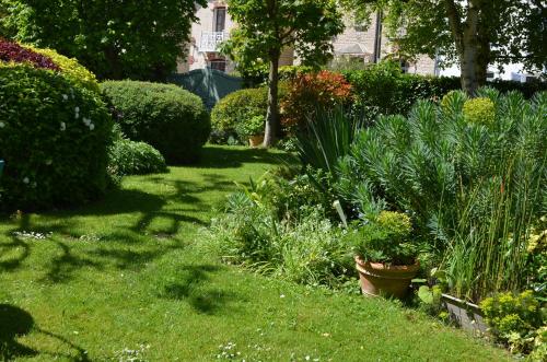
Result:
{"label": "leafy tree with pale thick trunk at top right", "polygon": [[399,51],[458,62],[462,87],[474,94],[489,65],[547,65],[545,0],[341,0],[360,19],[373,11]]}

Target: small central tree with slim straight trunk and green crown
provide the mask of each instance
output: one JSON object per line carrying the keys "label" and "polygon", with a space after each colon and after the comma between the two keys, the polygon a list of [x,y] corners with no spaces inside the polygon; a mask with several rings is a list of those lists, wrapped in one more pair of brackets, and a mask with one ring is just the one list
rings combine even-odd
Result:
{"label": "small central tree with slim straight trunk and green crown", "polygon": [[333,50],[331,39],[344,31],[334,0],[229,0],[228,12],[237,23],[222,51],[241,69],[269,63],[268,113],[264,145],[279,130],[279,57],[292,47],[304,63],[322,63]]}

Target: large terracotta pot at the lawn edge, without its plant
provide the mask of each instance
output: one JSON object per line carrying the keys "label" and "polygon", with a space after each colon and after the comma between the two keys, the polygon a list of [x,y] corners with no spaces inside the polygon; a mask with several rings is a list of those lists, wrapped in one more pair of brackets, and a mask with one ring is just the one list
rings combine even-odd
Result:
{"label": "large terracotta pot at the lawn edge, without its plant", "polygon": [[365,296],[404,297],[410,281],[418,273],[420,264],[410,266],[388,266],[382,262],[363,261],[356,256],[361,291]]}

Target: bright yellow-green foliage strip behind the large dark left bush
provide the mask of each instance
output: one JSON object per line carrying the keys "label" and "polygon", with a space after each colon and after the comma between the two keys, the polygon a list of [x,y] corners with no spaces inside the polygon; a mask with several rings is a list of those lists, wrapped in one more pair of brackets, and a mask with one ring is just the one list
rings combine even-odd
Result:
{"label": "bright yellow-green foliage strip behind the large dark left bush", "polygon": [[62,74],[70,81],[92,92],[101,93],[95,74],[90,72],[85,67],[81,66],[78,60],[61,56],[51,49],[38,49],[32,46],[25,47],[49,57],[61,69]]}

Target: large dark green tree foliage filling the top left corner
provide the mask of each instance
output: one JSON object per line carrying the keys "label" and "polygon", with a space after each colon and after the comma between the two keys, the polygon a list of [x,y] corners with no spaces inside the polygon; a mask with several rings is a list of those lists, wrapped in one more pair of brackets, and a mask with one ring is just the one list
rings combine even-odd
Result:
{"label": "large dark green tree foliage filling the top left corner", "polygon": [[[102,79],[161,80],[205,0],[0,0],[21,42],[75,57]],[[2,7],[0,5],[0,11]]]}

